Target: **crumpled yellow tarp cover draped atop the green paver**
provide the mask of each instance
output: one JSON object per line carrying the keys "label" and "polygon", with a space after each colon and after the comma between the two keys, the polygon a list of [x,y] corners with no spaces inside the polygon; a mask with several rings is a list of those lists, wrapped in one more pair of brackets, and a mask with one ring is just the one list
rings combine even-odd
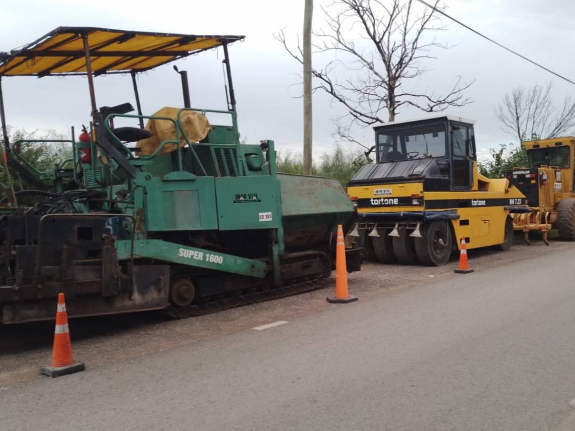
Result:
{"label": "crumpled yellow tarp cover draped atop the green paver", "polygon": [[[166,106],[156,112],[153,117],[168,117],[176,120],[178,118],[179,110],[179,108]],[[183,111],[180,116],[180,122],[190,143],[204,139],[208,136],[208,132],[211,128],[208,118],[197,111]],[[152,134],[152,137],[143,139],[136,143],[136,148],[141,149],[139,152],[139,155],[141,156],[152,154],[156,151],[156,148],[163,143],[163,141],[174,141],[176,139],[175,125],[171,121],[148,120],[145,125],[145,129]],[[186,145],[186,140],[181,136],[180,146],[183,147],[184,145]],[[162,148],[162,151],[160,151],[160,154],[175,151],[176,148],[175,144],[166,144]]]}

